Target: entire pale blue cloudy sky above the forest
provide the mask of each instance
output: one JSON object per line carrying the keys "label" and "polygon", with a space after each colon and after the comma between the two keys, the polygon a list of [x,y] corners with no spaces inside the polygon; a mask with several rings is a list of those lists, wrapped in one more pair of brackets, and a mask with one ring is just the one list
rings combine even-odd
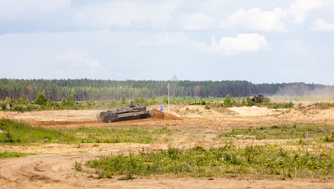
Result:
{"label": "entire pale blue cloudy sky above the forest", "polygon": [[334,85],[334,0],[0,0],[0,78]]}

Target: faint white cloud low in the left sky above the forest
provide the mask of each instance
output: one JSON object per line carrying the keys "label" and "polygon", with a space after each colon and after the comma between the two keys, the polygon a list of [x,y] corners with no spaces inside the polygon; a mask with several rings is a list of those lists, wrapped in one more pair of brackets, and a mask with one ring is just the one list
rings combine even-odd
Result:
{"label": "faint white cloud low in the left sky above the forest", "polygon": [[90,71],[100,68],[100,61],[92,59],[89,54],[84,54],[78,50],[69,50],[56,61],[68,61],[76,68],[88,69]]}

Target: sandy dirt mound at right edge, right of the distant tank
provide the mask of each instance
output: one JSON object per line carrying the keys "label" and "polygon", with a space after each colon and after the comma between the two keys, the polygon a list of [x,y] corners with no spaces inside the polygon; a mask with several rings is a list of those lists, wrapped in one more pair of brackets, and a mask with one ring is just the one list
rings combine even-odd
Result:
{"label": "sandy dirt mound at right edge, right of the distant tank", "polygon": [[277,115],[276,118],[286,119],[333,119],[334,108],[330,109],[317,109],[315,106],[311,106],[307,109],[289,109],[284,113]]}

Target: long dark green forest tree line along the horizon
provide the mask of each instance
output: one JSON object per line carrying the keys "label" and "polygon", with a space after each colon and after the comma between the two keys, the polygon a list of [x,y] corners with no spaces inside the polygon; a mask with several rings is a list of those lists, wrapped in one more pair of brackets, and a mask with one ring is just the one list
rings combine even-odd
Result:
{"label": "long dark green forest tree line along the horizon", "polygon": [[29,100],[42,92],[47,100],[61,102],[71,95],[74,101],[121,100],[143,97],[151,99],[168,94],[175,97],[246,97],[253,94],[310,95],[315,91],[334,92],[333,85],[306,83],[262,83],[246,80],[192,81],[192,80],[91,80],[91,79],[0,79],[0,99],[18,99],[25,95]]}

